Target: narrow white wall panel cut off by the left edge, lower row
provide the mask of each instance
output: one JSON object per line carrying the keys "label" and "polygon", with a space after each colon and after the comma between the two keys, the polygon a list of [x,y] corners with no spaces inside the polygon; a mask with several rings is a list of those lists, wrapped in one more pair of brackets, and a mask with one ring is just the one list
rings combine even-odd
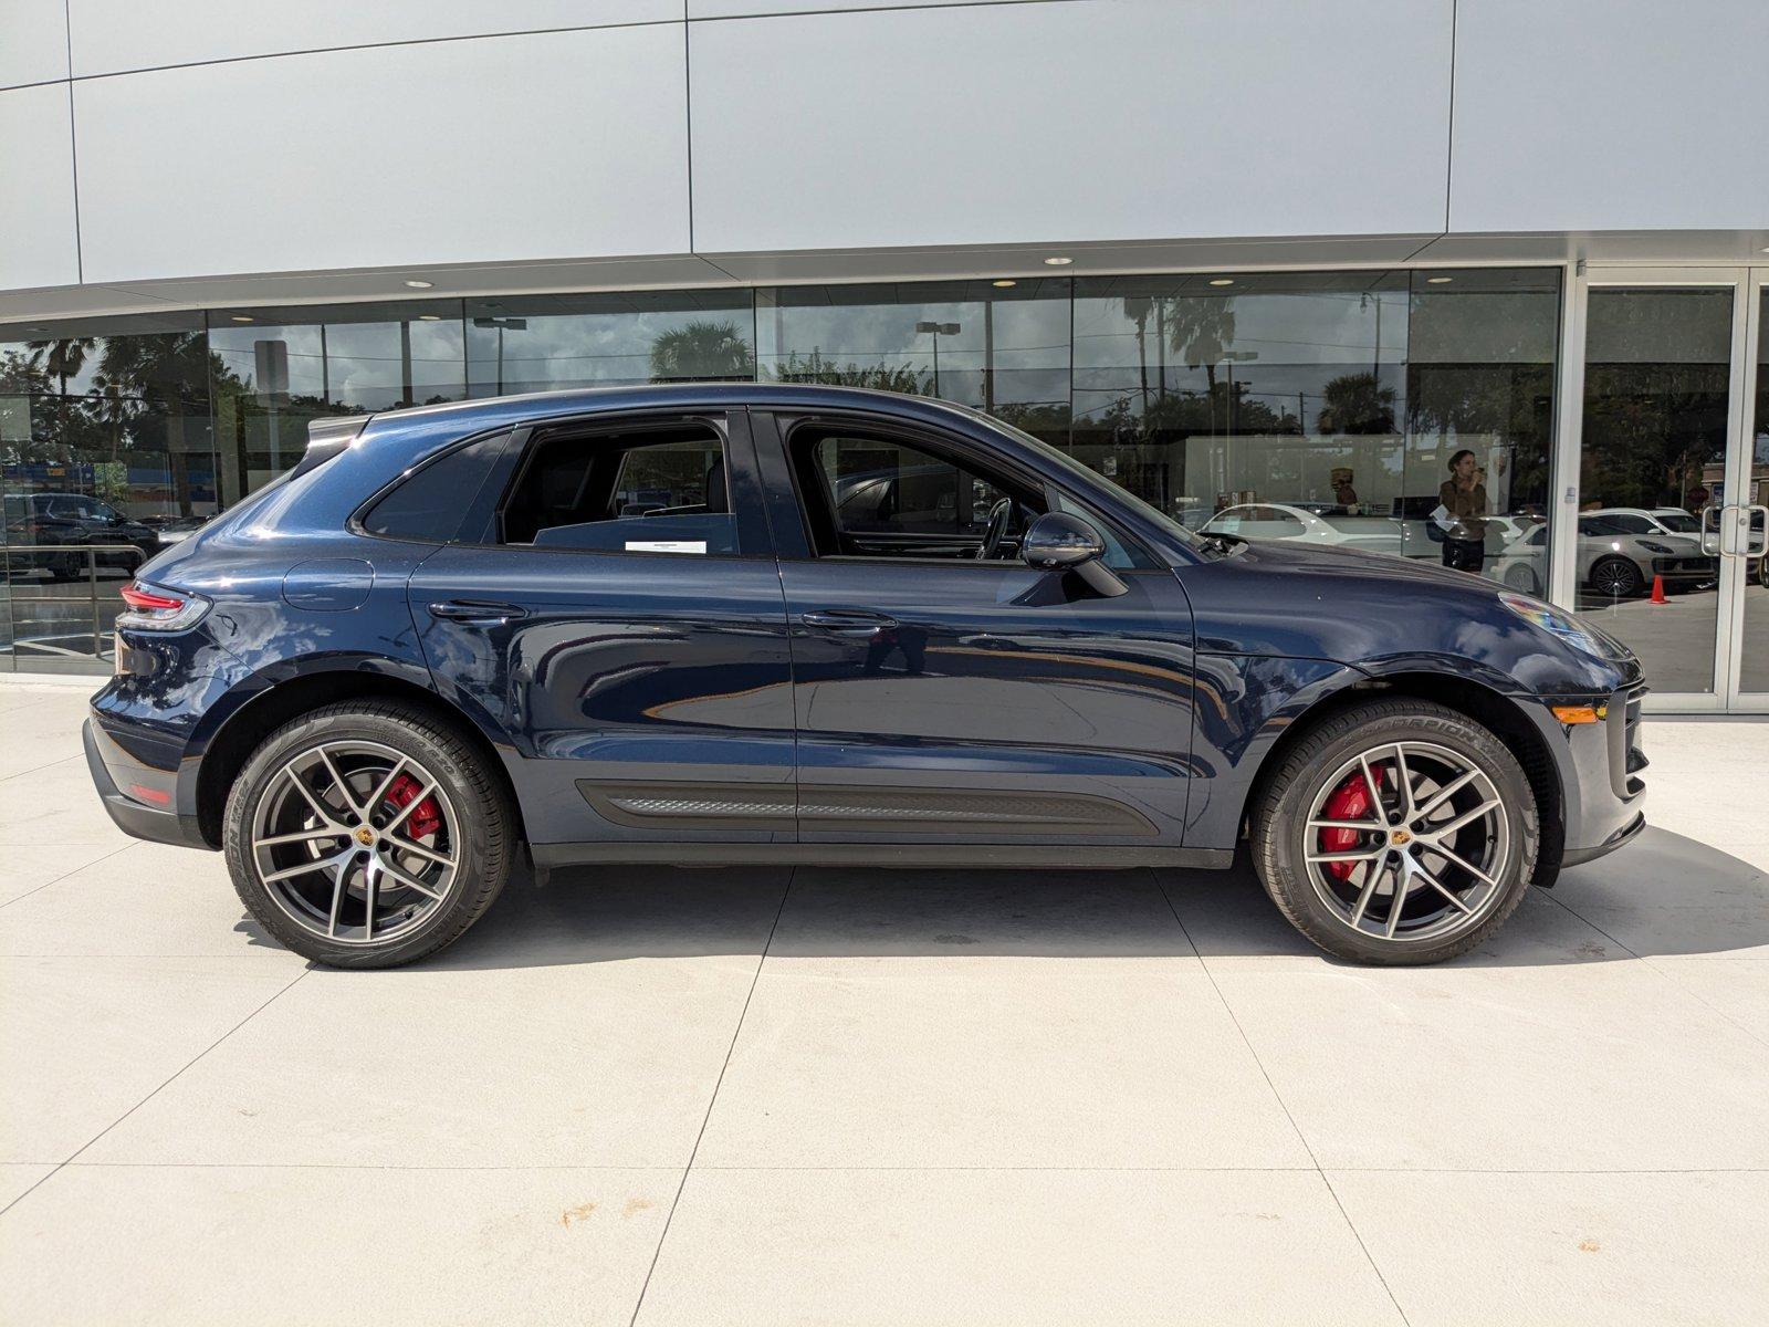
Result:
{"label": "narrow white wall panel cut off by the left edge, lower row", "polygon": [[74,140],[67,83],[0,92],[0,290],[73,285]]}

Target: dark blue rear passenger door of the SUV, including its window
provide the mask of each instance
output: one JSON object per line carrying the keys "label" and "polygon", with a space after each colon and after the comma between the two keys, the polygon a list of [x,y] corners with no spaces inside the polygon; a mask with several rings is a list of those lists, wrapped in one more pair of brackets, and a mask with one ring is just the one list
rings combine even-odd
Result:
{"label": "dark blue rear passenger door of the SUV, including its window", "polygon": [[409,593],[439,687],[515,745],[531,842],[791,842],[785,607],[745,410],[524,428],[492,492]]}

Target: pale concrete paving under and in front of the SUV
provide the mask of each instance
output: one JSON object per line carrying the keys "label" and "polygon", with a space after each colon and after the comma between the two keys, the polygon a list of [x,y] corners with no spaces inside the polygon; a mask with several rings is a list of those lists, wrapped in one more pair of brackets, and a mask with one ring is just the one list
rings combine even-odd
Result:
{"label": "pale concrete paving under and in front of the SUV", "polygon": [[1245,874],[619,869],[315,970],[0,685],[0,1322],[1721,1323],[1769,1304],[1769,722],[1431,970]]}

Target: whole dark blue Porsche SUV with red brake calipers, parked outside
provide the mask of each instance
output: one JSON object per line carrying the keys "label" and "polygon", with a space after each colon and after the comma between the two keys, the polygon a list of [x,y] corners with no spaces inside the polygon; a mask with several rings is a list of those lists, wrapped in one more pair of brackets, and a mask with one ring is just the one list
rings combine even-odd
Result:
{"label": "whole dark blue Porsche SUV with red brake calipers, parked outside", "polygon": [[1201,538],[964,407],[632,387],[315,425],[140,570],[85,743],[318,963],[513,869],[1228,867],[1431,963],[1642,825],[1640,665],[1394,557]]}

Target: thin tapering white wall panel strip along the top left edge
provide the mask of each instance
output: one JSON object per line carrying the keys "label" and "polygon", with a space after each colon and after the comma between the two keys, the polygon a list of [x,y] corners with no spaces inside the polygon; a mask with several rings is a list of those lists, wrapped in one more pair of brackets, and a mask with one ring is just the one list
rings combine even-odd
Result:
{"label": "thin tapering white wall panel strip along the top left edge", "polygon": [[681,0],[69,0],[74,74],[435,37],[679,21]]}

